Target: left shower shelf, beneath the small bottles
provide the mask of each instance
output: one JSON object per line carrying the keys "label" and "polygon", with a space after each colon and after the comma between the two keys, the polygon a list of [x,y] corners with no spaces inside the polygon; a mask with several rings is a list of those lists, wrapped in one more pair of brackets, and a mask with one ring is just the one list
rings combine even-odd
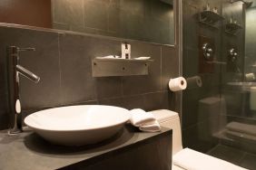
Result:
{"label": "left shower shelf, beneath the small bottles", "polygon": [[202,24],[207,24],[213,28],[217,28],[218,22],[224,20],[225,18],[221,14],[214,13],[212,11],[202,11],[199,14],[199,22]]}

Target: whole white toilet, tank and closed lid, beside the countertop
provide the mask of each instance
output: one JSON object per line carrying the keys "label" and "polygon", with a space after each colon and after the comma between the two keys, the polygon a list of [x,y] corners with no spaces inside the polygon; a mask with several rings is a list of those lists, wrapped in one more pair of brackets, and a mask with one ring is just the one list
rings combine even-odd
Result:
{"label": "whole white toilet, tank and closed lid, beside the countertop", "polygon": [[162,127],[172,128],[172,170],[245,170],[222,159],[182,147],[179,114],[168,109],[151,111]]}

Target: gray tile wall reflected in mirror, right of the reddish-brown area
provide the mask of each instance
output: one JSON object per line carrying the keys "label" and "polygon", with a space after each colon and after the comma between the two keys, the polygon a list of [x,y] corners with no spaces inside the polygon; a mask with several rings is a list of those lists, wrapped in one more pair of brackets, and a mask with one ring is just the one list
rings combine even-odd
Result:
{"label": "gray tile wall reflected in mirror, right of the reddish-brown area", "polygon": [[53,0],[56,29],[174,43],[172,5],[160,0]]}

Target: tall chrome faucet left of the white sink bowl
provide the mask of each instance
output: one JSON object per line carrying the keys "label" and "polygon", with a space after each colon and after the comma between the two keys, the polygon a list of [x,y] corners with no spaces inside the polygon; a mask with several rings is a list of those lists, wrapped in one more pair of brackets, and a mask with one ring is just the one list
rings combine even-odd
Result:
{"label": "tall chrome faucet left of the white sink bowl", "polygon": [[23,131],[22,128],[22,106],[20,102],[20,80],[19,75],[23,75],[29,80],[38,83],[40,78],[33,72],[26,70],[19,64],[19,53],[25,51],[35,51],[34,48],[19,48],[16,46],[8,47],[8,88],[9,88],[9,107],[12,113],[11,129],[9,134],[17,134]]}

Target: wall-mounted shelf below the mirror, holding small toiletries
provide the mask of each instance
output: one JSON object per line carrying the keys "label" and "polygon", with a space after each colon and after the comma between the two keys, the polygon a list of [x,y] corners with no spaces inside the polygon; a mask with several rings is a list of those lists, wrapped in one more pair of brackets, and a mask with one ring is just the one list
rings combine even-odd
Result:
{"label": "wall-mounted shelf below the mirror, holding small toiletries", "polygon": [[93,59],[93,77],[148,75],[153,60]]}

